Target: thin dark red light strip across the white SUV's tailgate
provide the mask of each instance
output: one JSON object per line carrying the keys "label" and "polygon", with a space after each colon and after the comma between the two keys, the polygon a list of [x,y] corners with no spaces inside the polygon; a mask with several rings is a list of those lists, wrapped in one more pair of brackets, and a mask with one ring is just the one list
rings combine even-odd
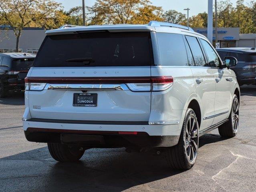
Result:
{"label": "thin dark red light strip across the white SUV's tailgate", "polygon": [[160,76],[160,77],[26,77],[26,83],[70,83],[70,84],[83,84],[83,83],[97,83],[97,84],[110,84],[110,83],[171,83],[173,77]]}

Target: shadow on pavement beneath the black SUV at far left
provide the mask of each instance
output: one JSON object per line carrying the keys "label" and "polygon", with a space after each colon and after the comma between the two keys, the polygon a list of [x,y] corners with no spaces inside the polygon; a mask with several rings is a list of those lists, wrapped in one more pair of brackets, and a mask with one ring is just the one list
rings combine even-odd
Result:
{"label": "shadow on pavement beneath the black SUV at far left", "polygon": [[0,104],[3,105],[24,105],[24,92],[13,92],[5,98],[0,98]]}

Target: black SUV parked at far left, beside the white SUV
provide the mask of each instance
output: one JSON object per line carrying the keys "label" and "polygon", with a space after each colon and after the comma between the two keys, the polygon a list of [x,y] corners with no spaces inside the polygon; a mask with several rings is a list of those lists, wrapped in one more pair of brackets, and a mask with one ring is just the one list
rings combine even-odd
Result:
{"label": "black SUV parked at far left, beside the white SUV", "polygon": [[6,97],[9,90],[24,90],[24,78],[33,64],[35,54],[0,53],[0,97]]}

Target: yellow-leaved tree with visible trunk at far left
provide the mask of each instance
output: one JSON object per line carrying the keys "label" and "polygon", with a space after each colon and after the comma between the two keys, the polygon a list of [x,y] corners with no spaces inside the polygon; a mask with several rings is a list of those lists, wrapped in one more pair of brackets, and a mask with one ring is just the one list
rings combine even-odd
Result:
{"label": "yellow-leaved tree with visible trunk at far left", "polygon": [[1,0],[0,17],[16,36],[16,51],[24,27],[43,26],[53,20],[60,6],[51,0]]}

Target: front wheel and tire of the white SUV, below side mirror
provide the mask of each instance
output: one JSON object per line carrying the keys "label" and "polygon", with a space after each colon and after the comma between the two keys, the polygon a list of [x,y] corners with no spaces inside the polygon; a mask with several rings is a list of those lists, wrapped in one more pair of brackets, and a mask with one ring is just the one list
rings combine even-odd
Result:
{"label": "front wheel and tire of the white SUV, below side mirror", "polygon": [[228,122],[218,127],[219,134],[222,137],[232,138],[236,136],[239,125],[239,102],[236,95],[233,96],[232,108],[228,117]]}

